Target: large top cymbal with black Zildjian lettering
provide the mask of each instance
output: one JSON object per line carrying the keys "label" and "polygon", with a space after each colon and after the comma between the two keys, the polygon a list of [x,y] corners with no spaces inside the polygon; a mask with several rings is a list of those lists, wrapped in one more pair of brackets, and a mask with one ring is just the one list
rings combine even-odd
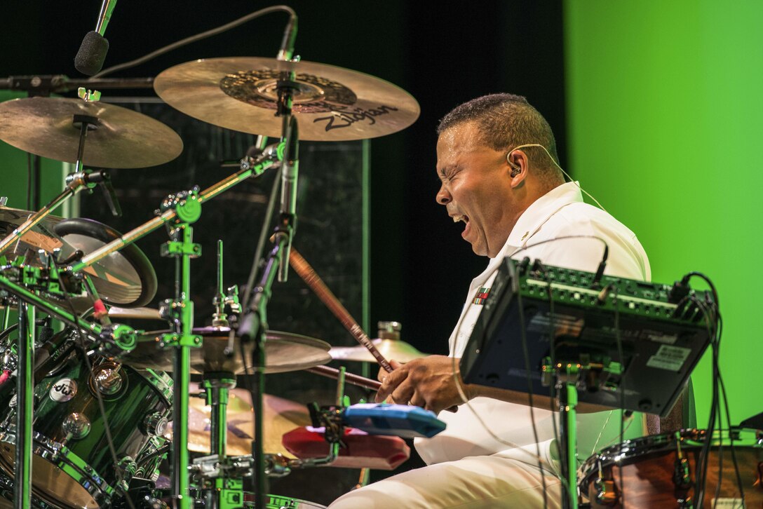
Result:
{"label": "large top cymbal with black Zildjian lettering", "polygon": [[314,62],[231,57],[195,60],[159,73],[159,97],[193,118],[243,133],[282,135],[276,82],[295,72],[292,111],[301,140],[362,140],[413,124],[419,105],[383,79]]}

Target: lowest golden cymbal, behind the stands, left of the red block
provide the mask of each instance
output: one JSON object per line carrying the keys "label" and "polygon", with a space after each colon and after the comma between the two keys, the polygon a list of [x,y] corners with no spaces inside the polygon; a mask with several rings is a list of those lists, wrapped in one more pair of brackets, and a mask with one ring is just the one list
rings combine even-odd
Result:
{"label": "lowest golden cymbal, behind the stands, left of the red block", "polygon": [[[197,383],[191,384],[191,393],[203,390]],[[229,391],[227,408],[227,456],[250,456],[252,454],[252,436],[254,433],[254,408],[252,395],[243,388]],[[204,398],[191,398],[188,401],[188,450],[195,453],[209,453],[211,407]],[[311,424],[310,414],[304,404],[278,398],[269,394],[262,395],[263,433],[266,453],[282,453],[293,458],[281,443],[284,433],[297,427]],[[172,439],[172,423],[169,424],[165,437]]]}

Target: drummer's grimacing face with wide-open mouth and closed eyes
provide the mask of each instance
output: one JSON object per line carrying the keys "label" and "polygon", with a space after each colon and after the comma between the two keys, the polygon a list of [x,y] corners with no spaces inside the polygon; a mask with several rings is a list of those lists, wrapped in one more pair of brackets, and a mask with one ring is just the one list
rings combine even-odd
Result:
{"label": "drummer's grimacing face with wide-open mouth and closed eyes", "polygon": [[519,215],[510,172],[506,153],[487,147],[476,124],[457,124],[439,135],[437,203],[454,221],[465,222],[461,236],[480,256],[497,256]]}

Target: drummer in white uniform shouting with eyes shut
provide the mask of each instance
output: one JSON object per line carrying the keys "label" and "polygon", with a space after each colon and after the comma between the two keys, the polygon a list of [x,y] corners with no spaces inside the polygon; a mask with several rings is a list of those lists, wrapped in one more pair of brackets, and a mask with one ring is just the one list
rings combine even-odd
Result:
{"label": "drummer in white uniform shouting with eyes shut", "polygon": [[[462,356],[505,256],[595,272],[606,243],[605,274],[650,279],[636,235],[585,204],[577,182],[565,183],[552,130],[525,98],[475,98],[450,111],[437,132],[436,200],[453,221],[464,223],[462,237],[475,254],[488,256],[487,268],[468,288],[461,317],[450,318],[456,322],[450,357]],[[380,373],[378,401],[439,412],[447,428],[417,441],[427,466],[352,491],[330,507],[561,507],[549,398],[536,395],[531,413],[526,395],[465,385],[467,405],[453,380],[451,358],[391,363],[393,372]],[[457,412],[444,411],[456,405]],[[578,406],[582,458],[620,440],[620,412],[599,410]],[[646,434],[639,414],[625,426],[626,439]]]}

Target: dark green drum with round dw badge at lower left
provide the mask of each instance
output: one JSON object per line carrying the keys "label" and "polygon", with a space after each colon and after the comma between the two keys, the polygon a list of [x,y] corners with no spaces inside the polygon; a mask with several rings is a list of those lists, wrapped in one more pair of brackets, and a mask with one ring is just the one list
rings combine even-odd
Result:
{"label": "dark green drum with round dw badge at lower left", "polygon": [[[92,374],[82,356],[34,388],[32,490],[36,498],[65,507],[108,506],[134,476],[153,478],[161,460],[170,417],[172,379],[150,369],[93,359]],[[108,446],[101,395],[117,453]],[[0,424],[0,467],[14,471],[16,411]]]}

